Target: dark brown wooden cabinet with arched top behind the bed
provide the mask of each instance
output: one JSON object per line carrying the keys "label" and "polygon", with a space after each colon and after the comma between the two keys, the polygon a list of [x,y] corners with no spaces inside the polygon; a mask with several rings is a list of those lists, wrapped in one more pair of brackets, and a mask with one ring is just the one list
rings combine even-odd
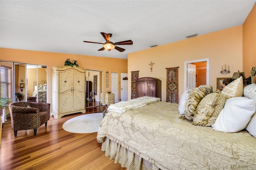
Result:
{"label": "dark brown wooden cabinet with arched top behind the bed", "polygon": [[143,96],[159,97],[161,99],[161,80],[152,77],[142,77],[136,80],[136,98]]}

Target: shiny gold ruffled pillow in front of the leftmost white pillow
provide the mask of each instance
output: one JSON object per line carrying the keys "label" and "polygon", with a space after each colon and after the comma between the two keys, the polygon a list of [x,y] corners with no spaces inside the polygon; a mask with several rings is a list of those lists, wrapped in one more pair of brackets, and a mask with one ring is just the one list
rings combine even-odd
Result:
{"label": "shiny gold ruffled pillow in front of the leftmost white pillow", "polygon": [[194,118],[194,114],[196,113],[196,107],[198,103],[201,101],[201,99],[212,93],[212,87],[208,85],[200,85],[195,91],[191,93],[191,95],[188,97],[187,105],[185,115],[183,117],[180,117],[181,119],[187,119],[188,121],[192,121]]}

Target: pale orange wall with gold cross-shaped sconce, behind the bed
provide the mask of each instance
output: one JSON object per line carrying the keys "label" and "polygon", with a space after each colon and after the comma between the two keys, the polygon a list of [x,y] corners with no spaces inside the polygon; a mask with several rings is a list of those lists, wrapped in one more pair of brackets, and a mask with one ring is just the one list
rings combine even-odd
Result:
{"label": "pale orange wall with gold cross-shaped sconce, behind the bed", "polygon": [[[210,85],[216,90],[216,77],[232,77],[242,71],[242,25],[195,38],[169,43],[128,54],[128,73],[139,70],[140,77],[162,81],[162,101],[166,101],[166,67],[179,66],[179,98],[184,92],[184,62],[209,58]],[[150,72],[149,63],[153,65]],[[230,74],[220,74],[221,66],[230,66]],[[246,75],[247,76],[247,75]],[[131,79],[131,74],[128,74]],[[128,81],[128,99],[131,82]]]}

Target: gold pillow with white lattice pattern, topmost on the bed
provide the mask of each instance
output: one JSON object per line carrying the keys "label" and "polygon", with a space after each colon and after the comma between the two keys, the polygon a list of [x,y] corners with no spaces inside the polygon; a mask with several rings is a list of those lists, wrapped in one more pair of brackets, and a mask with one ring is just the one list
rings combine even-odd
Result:
{"label": "gold pillow with white lattice pattern, topmost on the bed", "polygon": [[241,97],[243,95],[243,90],[243,78],[241,76],[226,85],[226,87],[224,87],[221,92],[225,95],[226,99],[229,99],[232,97]]}

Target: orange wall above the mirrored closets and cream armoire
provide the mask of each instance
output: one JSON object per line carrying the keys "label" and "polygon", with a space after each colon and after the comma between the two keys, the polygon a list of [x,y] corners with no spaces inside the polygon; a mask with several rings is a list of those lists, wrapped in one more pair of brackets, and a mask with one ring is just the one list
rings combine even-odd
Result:
{"label": "orange wall above the mirrored closets and cream armoire", "polygon": [[[46,65],[48,67],[48,70],[47,70],[48,103],[52,103],[52,69],[51,68],[54,66],[64,66],[64,62],[66,61],[67,58],[70,58],[70,60],[76,60],[78,62],[79,67],[82,69],[102,71],[104,73],[103,93],[108,90],[111,90],[111,81],[109,83],[110,84],[109,88],[106,88],[106,85],[105,85],[106,71],[110,73],[109,79],[111,79],[111,72],[118,73],[119,82],[120,82],[120,73],[127,73],[127,59],[0,48],[0,60],[2,61],[15,61],[20,63]],[[118,84],[118,91],[120,91],[120,83]],[[120,94],[118,96],[118,99],[120,99]]]}

